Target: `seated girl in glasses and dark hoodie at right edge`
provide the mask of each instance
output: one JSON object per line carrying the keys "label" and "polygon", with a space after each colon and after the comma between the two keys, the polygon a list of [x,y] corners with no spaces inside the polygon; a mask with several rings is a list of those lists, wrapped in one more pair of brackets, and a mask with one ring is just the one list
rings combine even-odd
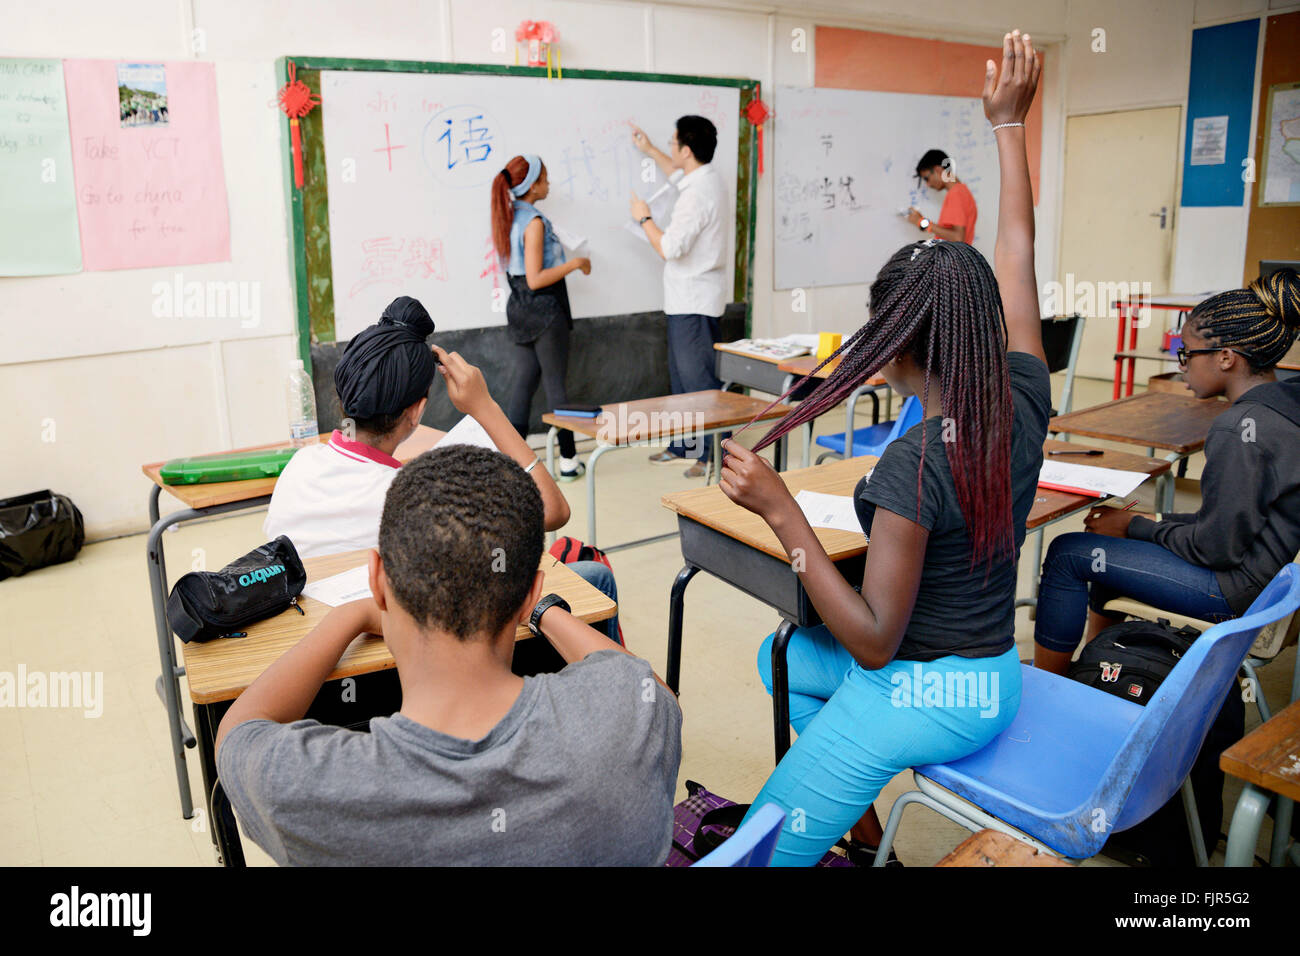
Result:
{"label": "seated girl in glasses and dark hoodie at right edge", "polygon": [[[1048,549],[1034,663],[1063,674],[1084,632],[1121,617],[1115,597],[1201,620],[1235,618],[1300,551],[1300,378],[1274,367],[1300,332],[1300,278],[1282,269],[1210,297],[1183,324],[1178,360],[1197,398],[1228,405],[1205,438],[1201,507],[1143,515],[1113,507]],[[1098,555],[1104,561],[1098,561]]]}

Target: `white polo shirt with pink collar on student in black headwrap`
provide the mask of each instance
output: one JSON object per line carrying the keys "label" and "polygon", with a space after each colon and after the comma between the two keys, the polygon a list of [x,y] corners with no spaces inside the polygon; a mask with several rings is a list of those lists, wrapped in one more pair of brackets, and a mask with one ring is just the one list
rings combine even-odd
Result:
{"label": "white polo shirt with pink collar on student in black headwrap", "polygon": [[377,548],[384,496],[402,463],[334,431],[329,441],[300,449],[276,483],[263,531],[287,535],[298,554],[337,554]]}

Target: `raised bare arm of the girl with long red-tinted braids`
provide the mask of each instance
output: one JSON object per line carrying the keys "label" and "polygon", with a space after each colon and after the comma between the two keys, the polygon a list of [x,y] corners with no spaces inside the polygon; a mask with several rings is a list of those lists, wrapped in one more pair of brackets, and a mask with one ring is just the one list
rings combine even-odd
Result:
{"label": "raised bare arm of the girl with long red-tinted braids", "polygon": [[1043,64],[1028,34],[1014,30],[1002,38],[1002,66],[989,60],[984,72],[984,116],[996,127],[1001,191],[997,203],[997,243],[993,273],[1006,313],[1006,350],[1028,352],[1044,362],[1043,316],[1034,274],[1034,193],[1024,151],[1024,117],[1039,88]]}

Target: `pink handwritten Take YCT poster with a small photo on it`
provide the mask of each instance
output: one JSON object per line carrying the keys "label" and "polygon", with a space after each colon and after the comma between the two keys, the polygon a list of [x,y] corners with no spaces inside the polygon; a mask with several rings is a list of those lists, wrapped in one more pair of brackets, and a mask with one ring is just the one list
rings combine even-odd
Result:
{"label": "pink handwritten Take YCT poster with a small photo on it", "polygon": [[65,60],[86,269],[230,259],[212,64]]}

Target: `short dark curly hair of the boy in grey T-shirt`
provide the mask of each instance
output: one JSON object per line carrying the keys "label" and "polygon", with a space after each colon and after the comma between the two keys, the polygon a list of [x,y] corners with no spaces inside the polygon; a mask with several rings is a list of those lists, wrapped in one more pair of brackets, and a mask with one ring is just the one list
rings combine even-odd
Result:
{"label": "short dark curly hair of the boy in grey T-shirt", "polygon": [[460,640],[494,635],[528,597],[542,557],[542,496],[499,451],[452,445],[389,486],[380,555],[398,604]]}

